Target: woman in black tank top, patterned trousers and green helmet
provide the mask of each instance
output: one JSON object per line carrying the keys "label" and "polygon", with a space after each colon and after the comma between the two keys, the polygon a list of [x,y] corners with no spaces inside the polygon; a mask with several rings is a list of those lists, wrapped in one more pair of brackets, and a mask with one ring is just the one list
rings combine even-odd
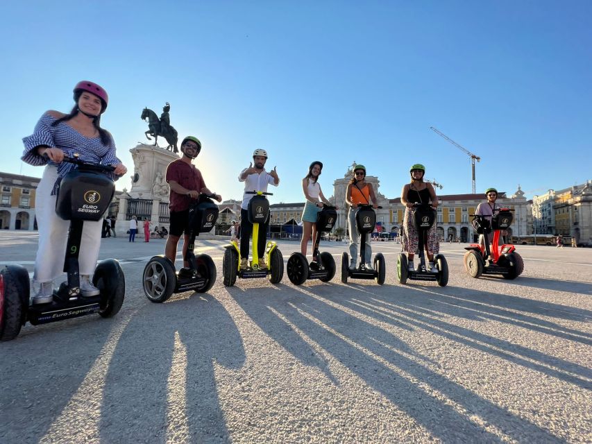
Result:
{"label": "woman in black tank top, patterned trousers and green helmet", "polygon": [[[403,250],[407,253],[409,261],[409,270],[414,271],[413,259],[419,245],[417,230],[413,225],[413,214],[415,213],[414,203],[429,203],[435,209],[438,206],[436,191],[429,182],[423,182],[425,167],[421,164],[415,164],[409,170],[411,174],[411,183],[405,184],[401,190],[401,203],[405,205],[405,218],[403,219],[403,232],[401,239]],[[440,251],[440,243],[436,230],[436,223],[428,230],[428,239],[425,244],[425,251],[428,253],[429,267],[437,271],[434,266],[434,255]]]}

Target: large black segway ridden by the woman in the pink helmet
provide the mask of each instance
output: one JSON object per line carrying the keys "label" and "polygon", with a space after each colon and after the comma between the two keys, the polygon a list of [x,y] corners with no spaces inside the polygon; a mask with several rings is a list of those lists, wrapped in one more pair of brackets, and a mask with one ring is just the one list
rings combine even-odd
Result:
{"label": "large black segway ridden by the woman in the pink helmet", "polygon": [[77,154],[64,157],[64,162],[78,167],[62,179],[56,199],[56,213],[70,221],[64,262],[67,282],[53,292],[51,302],[31,305],[26,268],[5,266],[0,271],[0,341],[14,339],[27,321],[40,325],[93,313],[110,318],[124,302],[126,279],[116,259],[105,259],[94,270],[92,283],[101,291],[98,296],[81,295],[78,269],[84,221],[100,221],[108,210],[115,183],[104,173],[114,167],[84,162]]}

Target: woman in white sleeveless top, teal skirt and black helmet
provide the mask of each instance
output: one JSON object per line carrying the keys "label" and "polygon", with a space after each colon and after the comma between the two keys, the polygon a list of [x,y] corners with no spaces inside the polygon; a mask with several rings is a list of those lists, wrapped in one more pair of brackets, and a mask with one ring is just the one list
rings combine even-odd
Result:
{"label": "woman in white sleeveless top, teal skirt and black helmet", "polygon": [[[321,208],[323,208],[323,202],[327,205],[331,205],[331,203],[325,199],[325,196],[323,196],[321,184],[319,184],[319,176],[321,176],[322,170],[323,164],[318,160],[315,160],[310,164],[308,174],[302,180],[302,190],[304,191],[306,203],[302,213],[304,229],[300,249],[304,256],[306,256],[308,240],[312,235],[312,241],[314,242],[316,236],[316,214],[321,211]],[[317,258],[313,256],[312,260],[316,262]]]}

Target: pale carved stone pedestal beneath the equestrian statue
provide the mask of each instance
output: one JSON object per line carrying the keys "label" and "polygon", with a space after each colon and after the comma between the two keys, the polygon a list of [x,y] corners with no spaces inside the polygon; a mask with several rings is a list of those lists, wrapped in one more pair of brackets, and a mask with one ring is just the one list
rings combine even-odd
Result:
{"label": "pale carved stone pedestal beneath the equestrian statue", "polygon": [[130,149],[134,161],[132,187],[128,194],[131,198],[169,202],[169,185],[164,180],[167,166],[179,156],[158,146],[138,144]]}

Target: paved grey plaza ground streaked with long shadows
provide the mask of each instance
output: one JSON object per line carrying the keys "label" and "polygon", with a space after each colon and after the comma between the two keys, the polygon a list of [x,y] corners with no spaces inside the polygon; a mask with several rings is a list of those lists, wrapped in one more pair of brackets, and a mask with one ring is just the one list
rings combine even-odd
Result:
{"label": "paved grey plaza ground streaked with long shadows", "polygon": [[[33,270],[36,232],[0,232],[0,264]],[[164,304],[141,275],[164,240],[103,239],[126,300],[115,318],[27,325],[0,343],[0,443],[590,443],[592,249],[519,246],[518,279],[387,282],[339,271],[222,284]],[[339,268],[347,244],[323,242]],[[296,242],[280,242],[287,260]]]}

